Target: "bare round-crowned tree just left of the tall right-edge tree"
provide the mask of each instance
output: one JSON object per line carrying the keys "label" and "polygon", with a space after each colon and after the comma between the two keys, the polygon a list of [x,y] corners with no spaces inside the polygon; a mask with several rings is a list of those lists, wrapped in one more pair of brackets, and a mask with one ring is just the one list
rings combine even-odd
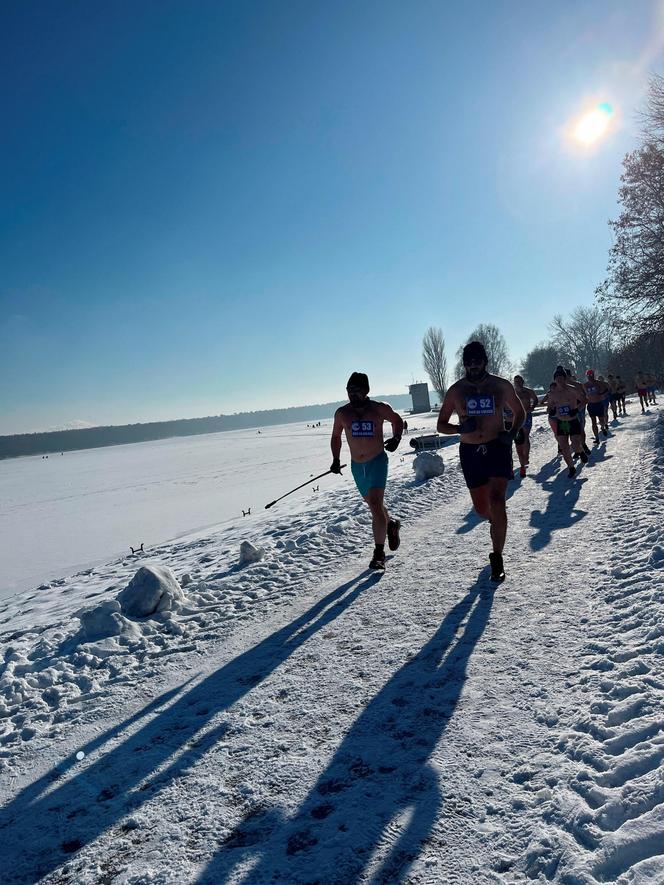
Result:
{"label": "bare round-crowned tree just left of the tall right-edge tree", "polygon": [[551,342],[567,368],[606,371],[614,349],[615,329],[606,311],[577,307],[569,319],[557,314],[549,324]]}

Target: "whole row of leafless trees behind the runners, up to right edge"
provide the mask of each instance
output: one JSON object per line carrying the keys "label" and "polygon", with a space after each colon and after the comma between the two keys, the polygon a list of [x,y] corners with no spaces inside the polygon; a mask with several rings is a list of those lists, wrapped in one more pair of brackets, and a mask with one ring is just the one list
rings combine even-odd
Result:
{"label": "whole row of leafless trees behind the runners, up to right edge", "polygon": [[[556,314],[549,339],[518,363],[510,360],[497,326],[477,326],[464,344],[481,341],[494,374],[518,371],[529,386],[546,389],[562,364],[577,375],[589,368],[620,375],[628,384],[639,371],[653,372],[664,383],[664,78],[659,75],[651,78],[642,122],[639,144],[623,160],[621,210],[609,221],[614,242],[595,304],[577,307],[567,317]],[[455,379],[463,375],[463,346],[455,354]],[[422,362],[442,402],[448,378],[442,329],[427,329]]]}

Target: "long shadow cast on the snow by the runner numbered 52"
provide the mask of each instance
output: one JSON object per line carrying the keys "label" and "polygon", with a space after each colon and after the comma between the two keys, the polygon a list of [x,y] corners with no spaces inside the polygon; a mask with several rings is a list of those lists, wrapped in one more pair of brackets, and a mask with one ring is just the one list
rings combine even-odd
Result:
{"label": "long shadow cast on the snow by the runner numbered 52", "polygon": [[234,871],[245,883],[402,880],[443,803],[440,772],[428,760],[489,620],[485,580],[368,704],[295,815],[269,808],[245,818],[199,885],[227,882]]}

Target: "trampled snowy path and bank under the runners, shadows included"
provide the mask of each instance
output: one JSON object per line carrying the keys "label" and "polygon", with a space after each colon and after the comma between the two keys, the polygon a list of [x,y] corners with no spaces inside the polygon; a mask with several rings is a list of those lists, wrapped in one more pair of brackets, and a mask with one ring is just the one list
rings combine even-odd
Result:
{"label": "trampled snowy path and bank under the runners, shadows included", "polygon": [[[2,602],[0,881],[664,882],[664,420],[574,480],[543,423],[498,588],[452,444],[427,482],[391,456],[384,575],[348,476],[262,509],[302,462]],[[139,618],[149,563],[182,589]]]}

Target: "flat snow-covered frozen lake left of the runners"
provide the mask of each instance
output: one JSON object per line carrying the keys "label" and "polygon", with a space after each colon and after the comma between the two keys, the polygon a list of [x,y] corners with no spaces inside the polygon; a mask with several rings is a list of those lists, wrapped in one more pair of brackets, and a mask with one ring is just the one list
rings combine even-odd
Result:
{"label": "flat snow-covered frozen lake left of the runners", "polygon": [[141,541],[242,518],[249,507],[258,514],[328,469],[331,427],[286,424],[0,461],[0,598]]}

